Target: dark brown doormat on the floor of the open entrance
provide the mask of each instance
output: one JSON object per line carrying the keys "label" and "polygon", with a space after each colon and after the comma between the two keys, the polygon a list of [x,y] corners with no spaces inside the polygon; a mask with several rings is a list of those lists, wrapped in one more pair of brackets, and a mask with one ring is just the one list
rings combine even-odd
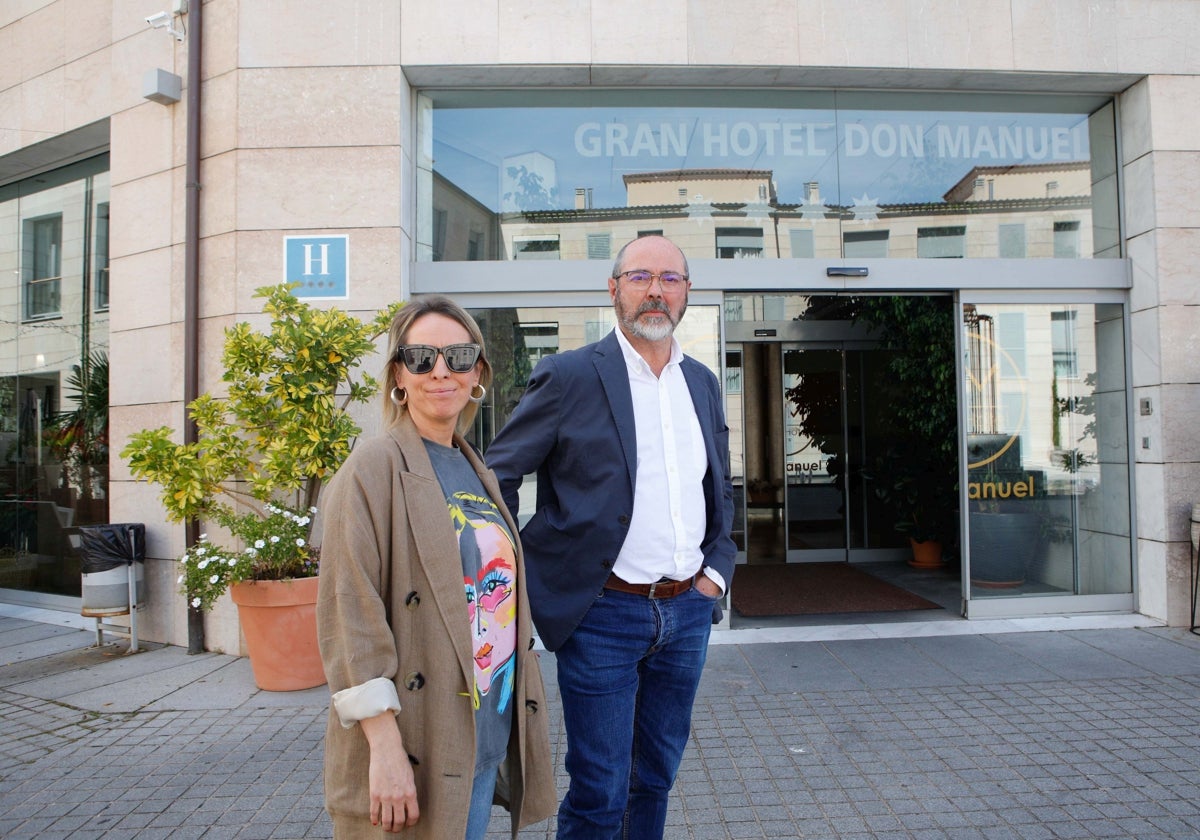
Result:
{"label": "dark brown doormat on the floor of the open entrance", "polygon": [[941,610],[848,563],[739,565],[733,572],[731,599],[743,616]]}

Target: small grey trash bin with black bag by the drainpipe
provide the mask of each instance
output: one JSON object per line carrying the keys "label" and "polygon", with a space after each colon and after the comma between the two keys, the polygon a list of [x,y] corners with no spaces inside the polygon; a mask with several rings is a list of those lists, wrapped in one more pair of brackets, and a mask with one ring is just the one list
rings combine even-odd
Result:
{"label": "small grey trash bin with black bag by the drainpipe", "polygon": [[[140,522],[107,522],[79,528],[83,570],[80,614],[96,619],[96,644],[104,630],[130,637],[130,653],[138,652],[138,607],[145,602],[146,529]],[[130,626],[103,619],[128,616]]]}

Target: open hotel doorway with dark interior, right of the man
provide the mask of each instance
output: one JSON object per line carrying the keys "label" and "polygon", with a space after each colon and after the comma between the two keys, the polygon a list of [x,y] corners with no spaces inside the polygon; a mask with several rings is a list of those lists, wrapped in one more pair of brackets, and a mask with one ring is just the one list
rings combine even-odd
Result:
{"label": "open hotel doorway with dark interior, right of the man", "polygon": [[[832,612],[959,614],[955,540],[946,540],[936,569],[913,569],[895,499],[881,492],[892,486],[898,454],[912,463],[928,452],[896,422],[896,350],[868,319],[854,318],[864,300],[751,295],[726,302],[734,540],[743,564],[734,624]],[[953,347],[950,300],[936,300]],[[754,320],[730,318],[746,305]],[[953,415],[953,379],[944,401]],[[952,449],[955,431],[953,421],[944,430]],[[952,460],[948,472],[955,469]],[[953,479],[943,488],[953,511]]]}

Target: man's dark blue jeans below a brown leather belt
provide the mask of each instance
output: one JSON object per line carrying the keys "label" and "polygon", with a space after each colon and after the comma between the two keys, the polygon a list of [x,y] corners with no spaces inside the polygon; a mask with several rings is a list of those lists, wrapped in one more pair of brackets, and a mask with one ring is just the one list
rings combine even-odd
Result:
{"label": "man's dark blue jeans below a brown leather belt", "polygon": [[571,778],[559,840],[662,836],[714,600],[605,589],[556,652]]}

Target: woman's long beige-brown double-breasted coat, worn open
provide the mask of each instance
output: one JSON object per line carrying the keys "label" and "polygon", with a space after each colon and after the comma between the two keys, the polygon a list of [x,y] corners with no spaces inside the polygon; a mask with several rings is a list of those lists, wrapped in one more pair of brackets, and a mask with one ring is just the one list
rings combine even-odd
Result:
{"label": "woman's long beige-brown double-breasted coat, worn open", "polygon": [[[512,534],[496,475],[461,438]],[[475,772],[474,660],[458,540],[428,454],[406,416],[360,440],[325,491],[320,517],[317,625],[330,691],[385,677],[396,684],[396,718],[416,776],[420,821],[404,838],[448,840],[467,830]],[[509,742],[512,835],[557,805],[548,709],[532,649],[520,545],[512,737]],[[367,818],[368,746],[331,709],[325,732],[325,806]]]}

